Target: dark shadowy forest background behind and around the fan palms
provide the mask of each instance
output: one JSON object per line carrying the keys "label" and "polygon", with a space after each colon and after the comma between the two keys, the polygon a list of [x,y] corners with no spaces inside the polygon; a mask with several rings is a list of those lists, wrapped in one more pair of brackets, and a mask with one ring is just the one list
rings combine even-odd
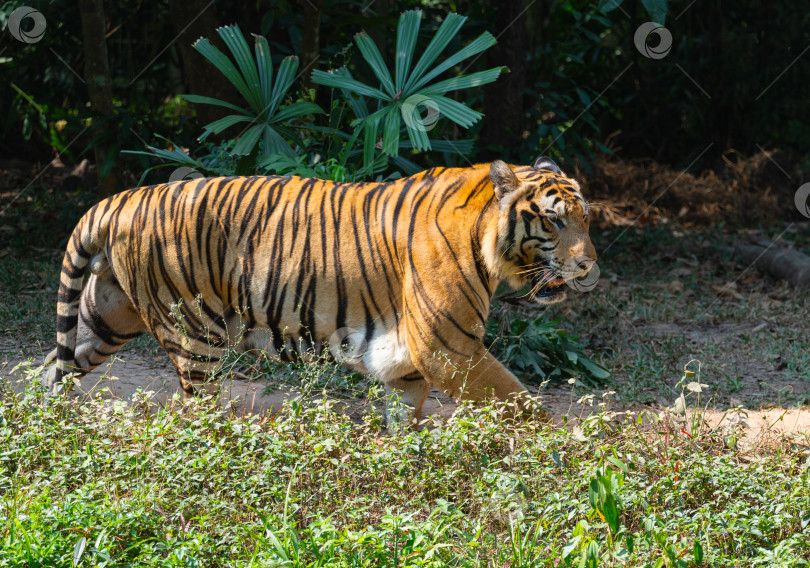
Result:
{"label": "dark shadowy forest background behind and around the fan palms", "polygon": [[[4,24],[20,5],[3,5]],[[92,201],[133,185],[156,160],[121,151],[165,147],[160,137],[193,153],[202,125],[225,113],[179,95],[240,102],[224,77],[191,48],[195,39],[207,37],[224,51],[218,26],[236,23],[249,41],[250,34],[264,35],[276,62],[295,54],[302,69],[348,65],[372,83],[353,35],[367,31],[392,61],[399,15],[413,8],[423,11],[424,37],[450,11],[467,16],[454,49],[482,31],[497,37],[498,44],[465,61],[464,70],[510,69],[490,85],[463,92],[464,102],[485,114],[469,132],[452,123],[442,126],[451,139],[471,137],[473,152],[414,153],[410,159],[419,166],[496,157],[531,163],[546,153],[586,177],[598,178],[602,170],[594,173],[594,164],[604,160],[697,174],[767,151],[771,170],[764,175],[784,185],[786,196],[810,167],[810,12],[787,0],[29,0],[24,5],[45,15],[47,30],[31,45],[8,30],[0,34],[0,165],[25,170],[26,164],[42,167],[56,159],[54,171],[70,172],[89,159],[69,183],[40,184],[28,190],[34,194],[78,190]],[[662,59],[644,57],[633,42],[656,5],[665,7],[662,19],[673,38]],[[103,26],[104,37],[88,34],[92,25]],[[108,69],[91,69],[103,52]],[[106,73],[108,80],[92,104],[91,71]],[[301,74],[291,96],[304,94],[328,110],[331,89],[308,79]],[[238,134],[232,128],[219,138]],[[87,167],[95,174],[87,175]],[[609,193],[610,184],[602,185]]]}

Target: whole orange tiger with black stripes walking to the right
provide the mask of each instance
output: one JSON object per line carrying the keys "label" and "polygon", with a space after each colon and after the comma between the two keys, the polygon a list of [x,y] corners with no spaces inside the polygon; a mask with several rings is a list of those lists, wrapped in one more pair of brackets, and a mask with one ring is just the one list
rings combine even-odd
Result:
{"label": "whole orange tiger with black stripes walking to the right", "polygon": [[279,359],[328,350],[415,422],[431,386],[514,401],[526,387],[483,340],[496,288],[562,301],[596,261],[589,223],[579,183],[546,156],[382,182],[219,177],[124,191],[68,240],[46,384],[60,391],[149,332],[184,396],[216,388],[238,338]]}

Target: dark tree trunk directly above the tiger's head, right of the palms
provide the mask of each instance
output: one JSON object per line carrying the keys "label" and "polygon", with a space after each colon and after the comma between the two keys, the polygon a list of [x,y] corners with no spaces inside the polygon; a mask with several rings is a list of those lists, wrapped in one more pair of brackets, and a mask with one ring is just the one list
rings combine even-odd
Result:
{"label": "dark tree trunk directly above the tiger's head, right of the palms", "polygon": [[485,85],[484,124],[480,140],[486,141],[480,156],[484,160],[515,156],[523,144],[523,90],[526,87],[526,0],[492,0],[495,14],[491,32],[497,45],[487,51],[488,65],[506,65],[494,83]]}

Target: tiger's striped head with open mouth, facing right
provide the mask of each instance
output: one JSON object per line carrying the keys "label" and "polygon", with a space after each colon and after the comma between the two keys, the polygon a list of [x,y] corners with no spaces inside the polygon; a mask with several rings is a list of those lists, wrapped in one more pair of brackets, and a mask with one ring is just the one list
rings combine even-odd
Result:
{"label": "tiger's striped head with open mouth, facing right", "polygon": [[579,184],[545,156],[515,170],[497,160],[489,178],[498,215],[484,247],[488,268],[512,286],[531,283],[539,304],[561,302],[564,284],[585,276],[596,261]]}

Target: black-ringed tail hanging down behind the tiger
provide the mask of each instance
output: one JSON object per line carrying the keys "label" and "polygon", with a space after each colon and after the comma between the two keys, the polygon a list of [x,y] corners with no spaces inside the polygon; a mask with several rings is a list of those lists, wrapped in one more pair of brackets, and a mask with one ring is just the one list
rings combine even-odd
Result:
{"label": "black-ringed tail hanging down behind the tiger", "polygon": [[[83,374],[74,361],[82,286],[91,259],[97,262],[93,257],[102,251],[104,242],[98,227],[94,227],[95,210],[94,207],[84,215],[73,229],[62,259],[56,307],[56,364],[46,377],[46,386],[54,394],[58,392],[65,375],[74,372]],[[101,232],[106,235],[106,230]],[[106,259],[99,261],[106,262]]]}

